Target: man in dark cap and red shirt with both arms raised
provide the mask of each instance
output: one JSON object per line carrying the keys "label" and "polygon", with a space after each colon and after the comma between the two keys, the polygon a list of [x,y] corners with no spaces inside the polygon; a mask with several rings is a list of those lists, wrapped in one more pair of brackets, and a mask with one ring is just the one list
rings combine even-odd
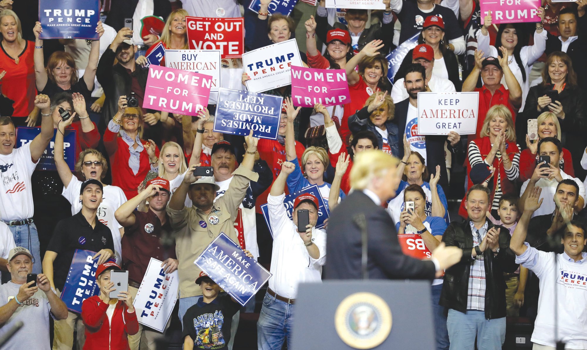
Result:
{"label": "man in dark cap and red shirt with both arms raised", "polygon": [[[502,55],[504,56],[498,58],[490,56],[483,59],[483,52],[475,50],[475,67],[463,82],[463,92],[478,91],[479,93],[477,132],[475,137],[469,135],[469,141],[479,137],[481,127],[483,127],[483,122],[485,121],[485,114],[487,114],[489,108],[496,104],[507,106],[515,123],[516,111],[519,110],[522,104],[522,88],[508,66],[507,51],[502,51]],[[475,87],[480,73],[483,86]],[[502,78],[505,79],[509,89],[505,89],[505,86],[501,84]]]}

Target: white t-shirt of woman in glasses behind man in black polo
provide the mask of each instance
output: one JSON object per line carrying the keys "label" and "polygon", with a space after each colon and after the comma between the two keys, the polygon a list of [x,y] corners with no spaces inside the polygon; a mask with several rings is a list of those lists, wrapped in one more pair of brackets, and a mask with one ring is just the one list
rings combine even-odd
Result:
{"label": "white t-shirt of woman in glasses behind man in black polo", "polygon": [[[75,176],[72,176],[71,181],[67,187],[63,187],[61,195],[72,203],[72,215],[79,213],[82,210],[82,201],[79,199],[79,191],[82,188],[82,181],[79,181]],[[98,207],[96,215],[101,223],[108,226],[110,232],[112,232],[112,239],[114,240],[114,253],[116,254],[116,263],[122,264],[122,245],[120,244],[120,225],[116,218],[114,218],[114,212],[124,202],[127,201],[126,195],[122,189],[118,186],[104,185],[104,193],[102,194],[102,203]]]}

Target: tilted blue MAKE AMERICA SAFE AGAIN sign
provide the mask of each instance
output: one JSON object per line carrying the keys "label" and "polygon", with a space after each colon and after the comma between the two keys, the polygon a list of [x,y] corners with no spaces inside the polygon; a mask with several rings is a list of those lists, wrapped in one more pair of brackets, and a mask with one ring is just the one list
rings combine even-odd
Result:
{"label": "tilted blue MAKE AMERICA SAFE AGAIN sign", "polygon": [[245,256],[241,247],[224,232],[210,243],[194,264],[242,306],[272,276],[257,260]]}

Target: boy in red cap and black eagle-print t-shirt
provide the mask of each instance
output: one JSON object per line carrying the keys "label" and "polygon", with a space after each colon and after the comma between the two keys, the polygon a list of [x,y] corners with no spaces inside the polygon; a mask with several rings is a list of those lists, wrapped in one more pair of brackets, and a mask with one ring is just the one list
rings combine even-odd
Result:
{"label": "boy in red cap and black eagle-print t-shirt", "polygon": [[[252,257],[248,250],[245,255]],[[232,316],[240,305],[230,295],[220,293],[220,286],[202,271],[195,280],[200,284],[202,297],[188,308],[183,319],[184,350],[227,350],[230,341]]]}

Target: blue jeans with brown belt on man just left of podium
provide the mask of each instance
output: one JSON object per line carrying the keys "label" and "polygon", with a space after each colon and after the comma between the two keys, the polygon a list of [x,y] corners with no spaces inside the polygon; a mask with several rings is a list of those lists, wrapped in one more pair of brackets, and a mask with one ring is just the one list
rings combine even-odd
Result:
{"label": "blue jeans with brown belt on man just left of podium", "polygon": [[291,335],[294,324],[294,305],[276,300],[265,294],[259,321],[257,322],[257,346],[259,350],[280,350],[285,338],[292,348]]}

